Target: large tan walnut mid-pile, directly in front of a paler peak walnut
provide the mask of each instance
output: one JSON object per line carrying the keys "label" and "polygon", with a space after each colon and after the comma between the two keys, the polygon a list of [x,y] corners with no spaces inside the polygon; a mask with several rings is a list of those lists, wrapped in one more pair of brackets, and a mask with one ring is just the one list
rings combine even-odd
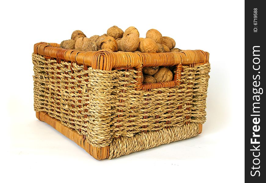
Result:
{"label": "large tan walnut mid-pile, directly in front of a paler peak walnut", "polygon": [[129,33],[124,35],[121,40],[118,40],[119,49],[124,52],[134,52],[140,44],[140,38],[137,34]]}

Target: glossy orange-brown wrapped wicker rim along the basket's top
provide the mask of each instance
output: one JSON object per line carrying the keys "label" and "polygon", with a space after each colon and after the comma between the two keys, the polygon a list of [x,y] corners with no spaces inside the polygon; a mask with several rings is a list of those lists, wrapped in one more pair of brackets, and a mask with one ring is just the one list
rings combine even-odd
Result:
{"label": "glossy orange-brown wrapped wicker rim along the basket's top", "polygon": [[209,53],[202,50],[165,53],[110,52],[107,50],[83,52],[59,47],[60,45],[57,43],[39,42],[34,45],[34,53],[100,70],[112,70],[118,67],[142,68],[178,64],[191,65],[209,62]]}

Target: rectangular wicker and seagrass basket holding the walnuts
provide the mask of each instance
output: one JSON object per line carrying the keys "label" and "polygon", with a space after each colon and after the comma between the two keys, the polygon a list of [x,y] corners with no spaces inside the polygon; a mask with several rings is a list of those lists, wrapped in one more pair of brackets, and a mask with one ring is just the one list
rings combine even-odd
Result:
{"label": "rectangular wicker and seagrass basket holding the walnuts", "polygon": [[[208,52],[81,52],[41,42],[32,61],[36,117],[98,160],[202,131]],[[174,79],[143,84],[145,66],[175,66]]]}

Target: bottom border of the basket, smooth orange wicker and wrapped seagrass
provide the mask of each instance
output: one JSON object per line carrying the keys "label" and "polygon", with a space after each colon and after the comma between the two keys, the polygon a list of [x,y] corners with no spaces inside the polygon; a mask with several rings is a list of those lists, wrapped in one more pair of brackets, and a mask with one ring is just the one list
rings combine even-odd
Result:
{"label": "bottom border of the basket, smooth orange wicker and wrapped seagrass", "polygon": [[[83,141],[82,135],[79,135],[74,129],[64,126],[59,120],[50,117],[46,112],[36,112],[36,117],[51,125],[57,131],[74,141],[80,147],[86,150],[91,156],[97,160],[111,159],[122,155],[129,154],[144,149],[156,147],[173,141],[191,138],[202,132],[202,124],[185,124],[181,127],[170,127],[158,131],[141,132],[133,137],[120,137],[105,147],[94,147],[87,141]],[[147,141],[143,139],[148,139]],[[136,147],[136,144],[138,146]],[[124,149],[124,147],[129,147]],[[123,149],[122,149],[123,148]]]}

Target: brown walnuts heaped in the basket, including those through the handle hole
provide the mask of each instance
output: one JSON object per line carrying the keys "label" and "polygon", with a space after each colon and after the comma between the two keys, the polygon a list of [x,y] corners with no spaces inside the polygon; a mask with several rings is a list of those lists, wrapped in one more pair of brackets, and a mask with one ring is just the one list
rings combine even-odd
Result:
{"label": "brown walnuts heaped in the basket, including those through the handle hole", "polygon": [[[108,50],[112,52],[134,53],[163,53],[181,52],[175,48],[173,38],[162,36],[156,29],[150,29],[146,38],[140,38],[139,31],[135,27],[128,27],[125,31],[117,26],[110,27],[106,34],[94,35],[87,38],[81,30],[75,30],[71,39],[62,41],[60,48],[75,49],[80,51]],[[173,80],[173,72],[166,67],[144,67],[143,83],[158,83]]]}

